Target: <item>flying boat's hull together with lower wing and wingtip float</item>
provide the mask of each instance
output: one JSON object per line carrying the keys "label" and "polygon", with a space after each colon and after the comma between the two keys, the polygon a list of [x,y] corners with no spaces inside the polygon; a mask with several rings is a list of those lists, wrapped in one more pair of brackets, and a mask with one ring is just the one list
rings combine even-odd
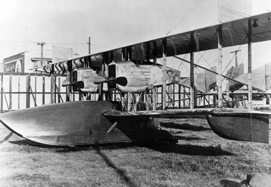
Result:
{"label": "flying boat's hull together with lower wing and wingtip float", "polygon": [[219,108],[129,112],[112,110],[113,106],[107,101],[48,104],[0,114],[0,122],[21,137],[54,146],[176,142],[172,134],[161,130],[156,117],[179,118],[201,113],[207,116],[211,129],[223,138],[269,143],[270,114],[264,112]]}

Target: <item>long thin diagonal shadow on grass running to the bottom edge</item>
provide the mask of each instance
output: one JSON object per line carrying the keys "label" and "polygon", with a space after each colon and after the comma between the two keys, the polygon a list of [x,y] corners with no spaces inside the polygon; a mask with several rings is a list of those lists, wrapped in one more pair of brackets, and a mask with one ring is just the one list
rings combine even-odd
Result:
{"label": "long thin diagonal shadow on grass running to the bottom edge", "polygon": [[116,173],[120,176],[120,178],[126,183],[128,187],[137,187],[137,185],[135,185],[131,178],[126,175],[124,169],[117,167],[105,154],[101,152],[100,148],[95,148],[95,150],[102,157],[105,163],[116,171]]}

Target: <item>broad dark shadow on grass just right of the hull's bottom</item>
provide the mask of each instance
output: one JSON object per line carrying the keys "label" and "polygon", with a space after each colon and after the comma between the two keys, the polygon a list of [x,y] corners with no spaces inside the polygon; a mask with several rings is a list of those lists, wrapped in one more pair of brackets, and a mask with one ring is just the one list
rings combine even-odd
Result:
{"label": "broad dark shadow on grass just right of the hull's bottom", "polygon": [[217,146],[200,146],[200,145],[179,145],[160,143],[156,145],[146,146],[147,148],[162,153],[177,153],[189,156],[233,156],[231,152],[225,151],[220,145]]}

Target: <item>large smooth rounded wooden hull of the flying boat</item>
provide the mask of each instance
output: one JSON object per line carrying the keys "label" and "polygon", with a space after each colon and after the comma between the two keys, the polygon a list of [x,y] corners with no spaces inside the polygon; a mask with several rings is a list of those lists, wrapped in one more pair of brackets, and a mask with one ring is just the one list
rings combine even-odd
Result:
{"label": "large smooth rounded wooden hull of the flying boat", "polygon": [[[112,104],[106,101],[48,104],[0,114],[0,122],[19,136],[57,146],[141,141],[160,129],[160,125],[149,119],[141,120],[141,123],[147,122],[148,128],[144,131],[138,129],[139,123],[120,121],[118,129],[107,134],[106,131],[116,122],[102,116],[108,110],[112,110]],[[151,137],[155,139],[155,135]]]}

